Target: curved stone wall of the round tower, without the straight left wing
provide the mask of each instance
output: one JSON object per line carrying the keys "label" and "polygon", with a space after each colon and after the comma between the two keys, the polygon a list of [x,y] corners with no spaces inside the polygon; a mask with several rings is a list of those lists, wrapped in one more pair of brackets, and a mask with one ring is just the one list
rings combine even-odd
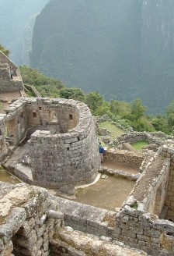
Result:
{"label": "curved stone wall of the round tower, without the straight left wing", "polygon": [[[29,153],[35,183],[59,188],[95,180],[99,169],[99,150],[89,108],[74,100],[57,99],[56,105],[55,100],[48,102],[42,99],[38,102],[37,108],[44,109],[44,121],[49,123],[50,118],[50,123],[55,123],[59,132],[36,130],[30,137]],[[37,122],[36,108],[35,112]]]}

